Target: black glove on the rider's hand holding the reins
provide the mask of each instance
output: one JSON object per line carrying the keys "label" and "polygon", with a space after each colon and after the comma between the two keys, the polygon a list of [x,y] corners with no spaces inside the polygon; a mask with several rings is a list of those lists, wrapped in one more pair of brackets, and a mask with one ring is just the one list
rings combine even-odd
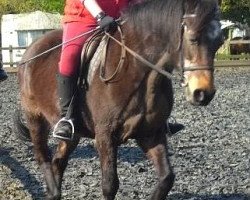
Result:
{"label": "black glove on the rider's hand holding the reins", "polygon": [[100,13],[97,17],[97,23],[101,29],[106,32],[114,32],[117,28],[117,23],[113,17]]}

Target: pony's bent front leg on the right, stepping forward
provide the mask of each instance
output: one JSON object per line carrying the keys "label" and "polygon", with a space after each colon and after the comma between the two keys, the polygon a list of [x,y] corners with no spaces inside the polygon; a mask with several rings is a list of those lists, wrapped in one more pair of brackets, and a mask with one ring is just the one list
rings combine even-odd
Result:
{"label": "pony's bent front leg on the right, stepping forward", "polygon": [[152,160],[159,177],[159,183],[150,199],[165,200],[173,186],[175,178],[167,157],[166,135],[161,131],[156,135],[152,135],[152,137],[137,139],[137,142],[148,158]]}

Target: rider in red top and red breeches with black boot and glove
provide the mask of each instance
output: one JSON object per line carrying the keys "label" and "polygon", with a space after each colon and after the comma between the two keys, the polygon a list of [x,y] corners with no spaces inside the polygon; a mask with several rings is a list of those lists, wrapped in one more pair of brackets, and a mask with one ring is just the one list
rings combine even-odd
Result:
{"label": "rider in red top and red breeches with black boot and glove", "polygon": [[63,17],[63,46],[57,78],[59,103],[63,120],[60,120],[55,126],[54,137],[63,140],[70,140],[72,137],[71,123],[64,120],[64,117],[76,90],[82,46],[90,35],[71,42],[67,41],[95,29],[98,25],[108,32],[115,30],[117,26],[115,19],[120,16],[120,11],[127,7],[131,1],[66,0]]}

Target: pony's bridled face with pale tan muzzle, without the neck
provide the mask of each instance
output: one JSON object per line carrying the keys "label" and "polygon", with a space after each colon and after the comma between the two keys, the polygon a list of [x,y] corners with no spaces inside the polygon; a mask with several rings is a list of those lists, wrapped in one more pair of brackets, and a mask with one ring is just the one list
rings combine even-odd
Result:
{"label": "pony's bridled face with pale tan muzzle, without the neck", "polygon": [[186,98],[207,105],[214,97],[214,57],[223,43],[216,1],[186,1],[182,23],[180,65]]}

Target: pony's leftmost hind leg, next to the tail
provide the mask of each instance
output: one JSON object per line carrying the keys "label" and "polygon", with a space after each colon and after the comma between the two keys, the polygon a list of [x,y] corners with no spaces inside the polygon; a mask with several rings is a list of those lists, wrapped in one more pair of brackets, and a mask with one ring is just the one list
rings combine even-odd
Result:
{"label": "pony's leftmost hind leg, next to the tail", "polygon": [[59,199],[60,193],[51,168],[51,156],[47,144],[48,124],[41,116],[26,114],[35,158],[44,174],[47,186],[47,199]]}

